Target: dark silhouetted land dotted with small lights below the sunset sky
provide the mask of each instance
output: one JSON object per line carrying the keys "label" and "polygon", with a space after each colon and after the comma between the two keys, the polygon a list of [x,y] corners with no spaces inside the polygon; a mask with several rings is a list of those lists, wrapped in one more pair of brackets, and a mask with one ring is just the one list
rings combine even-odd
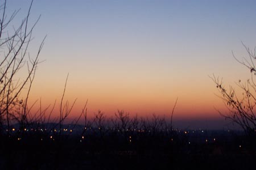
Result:
{"label": "dark silhouetted land dotted with small lights below the sunset sky", "polygon": [[1,134],[0,169],[255,169],[255,141],[242,131],[133,120],[14,125]]}

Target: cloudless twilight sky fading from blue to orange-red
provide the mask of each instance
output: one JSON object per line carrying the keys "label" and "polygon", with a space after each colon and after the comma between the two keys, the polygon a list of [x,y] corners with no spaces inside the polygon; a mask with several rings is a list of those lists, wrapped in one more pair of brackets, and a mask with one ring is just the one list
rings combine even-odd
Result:
{"label": "cloudless twilight sky fading from blue to orange-red", "polygon": [[[30,1],[8,1],[10,11]],[[246,56],[241,41],[256,45],[256,1],[34,1],[39,16],[31,54],[47,35],[31,102],[60,100],[69,73],[66,100],[87,99],[89,114],[117,109],[139,116],[176,120],[221,118],[224,107],[208,75],[226,86],[250,73],[232,57]],[[57,104],[59,107],[59,104]],[[222,118],[221,118],[222,119]],[[188,125],[189,126],[189,125]]]}

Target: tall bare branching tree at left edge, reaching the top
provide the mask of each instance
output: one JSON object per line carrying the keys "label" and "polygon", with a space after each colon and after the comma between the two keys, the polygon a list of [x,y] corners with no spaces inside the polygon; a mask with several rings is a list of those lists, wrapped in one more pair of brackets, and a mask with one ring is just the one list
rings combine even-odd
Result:
{"label": "tall bare branching tree at left edge, reaching the top", "polygon": [[[32,39],[32,32],[40,16],[31,27],[28,20],[33,1],[31,1],[27,15],[18,27],[13,26],[13,20],[19,10],[7,16],[7,1],[3,1],[0,12],[0,129],[18,122],[20,129],[27,123],[30,109],[27,106],[32,82],[39,63],[39,54],[43,48],[44,39],[35,57],[28,53],[28,46]],[[11,30],[12,29],[12,30]],[[27,67],[27,74],[20,76],[20,71]],[[20,96],[23,92],[23,97]],[[24,95],[26,94],[26,95]]]}

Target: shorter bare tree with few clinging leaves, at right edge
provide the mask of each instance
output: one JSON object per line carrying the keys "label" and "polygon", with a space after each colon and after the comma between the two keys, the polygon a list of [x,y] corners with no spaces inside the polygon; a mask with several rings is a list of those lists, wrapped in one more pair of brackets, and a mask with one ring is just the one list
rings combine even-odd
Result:
{"label": "shorter bare tree with few clinging leaves, at right edge", "polygon": [[[234,53],[233,57],[236,59],[238,63],[247,67],[249,69],[249,73],[251,74],[251,78],[247,80],[247,82],[241,82],[238,80],[237,87],[240,91],[236,91],[233,86],[229,86],[228,88],[224,86],[222,79],[216,76],[210,76],[213,82],[216,84],[216,87],[220,93],[220,98],[226,104],[226,108],[228,108],[228,113],[222,113],[218,111],[223,117],[237,125],[241,126],[241,128],[245,131],[245,133],[249,136],[256,135],[256,114],[255,114],[255,105],[256,105],[256,84],[254,80],[254,76],[256,76],[255,70],[255,60],[256,53],[254,50],[250,50],[242,43],[243,47],[246,49],[247,58],[243,57],[242,59],[238,59]],[[240,94],[241,92],[241,94]]]}

